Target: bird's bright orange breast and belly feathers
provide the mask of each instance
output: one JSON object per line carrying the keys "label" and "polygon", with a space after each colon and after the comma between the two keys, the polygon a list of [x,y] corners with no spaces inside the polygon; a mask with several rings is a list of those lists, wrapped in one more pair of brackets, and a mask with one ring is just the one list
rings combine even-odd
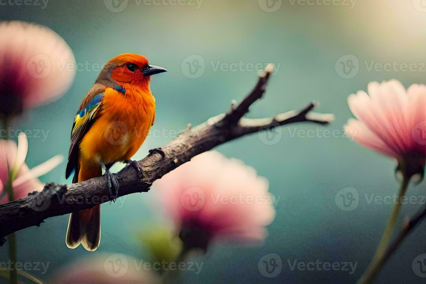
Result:
{"label": "bird's bright orange breast and belly feathers", "polygon": [[107,88],[100,116],[81,140],[81,158],[104,164],[129,160],[147,138],[154,114],[151,92]]}

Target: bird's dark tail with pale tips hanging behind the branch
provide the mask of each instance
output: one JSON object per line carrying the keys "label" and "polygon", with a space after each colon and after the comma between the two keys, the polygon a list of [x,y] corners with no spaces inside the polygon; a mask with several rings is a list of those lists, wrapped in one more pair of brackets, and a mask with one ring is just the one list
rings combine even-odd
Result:
{"label": "bird's dark tail with pale tips hanging behind the branch", "polygon": [[[77,171],[77,169],[79,169]],[[99,164],[84,164],[79,161],[75,175],[78,182],[100,176],[102,168]],[[86,250],[94,251],[101,241],[101,205],[90,209],[72,212],[69,216],[68,230],[66,232],[66,246],[74,249],[82,244]]]}

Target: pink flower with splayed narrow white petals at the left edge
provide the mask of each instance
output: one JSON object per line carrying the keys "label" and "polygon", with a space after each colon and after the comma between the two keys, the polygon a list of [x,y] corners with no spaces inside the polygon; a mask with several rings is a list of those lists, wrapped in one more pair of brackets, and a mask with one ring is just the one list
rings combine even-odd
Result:
{"label": "pink flower with splayed narrow white petals at the left edge", "polygon": [[14,199],[24,198],[29,192],[41,191],[42,184],[37,177],[58,166],[63,160],[62,155],[56,155],[48,161],[29,169],[25,164],[28,151],[28,141],[26,135],[21,132],[18,135],[18,146],[13,141],[0,139],[0,204],[9,202],[6,192],[9,181],[9,169],[15,173],[13,180]]}

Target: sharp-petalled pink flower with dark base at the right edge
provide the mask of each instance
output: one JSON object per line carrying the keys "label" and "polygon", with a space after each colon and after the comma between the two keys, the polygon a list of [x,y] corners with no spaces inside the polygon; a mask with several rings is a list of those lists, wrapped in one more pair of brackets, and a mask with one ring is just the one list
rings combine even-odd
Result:
{"label": "sharp-petalled pink flower with dark base at the right edge", "polygon": [[358,119],[349,119],[345,132],[363,146],[395,158],[398,175],[423,177],[426,162],[426,86],[406,91],[398,80],[368,84],[368,95],[348,97]]}

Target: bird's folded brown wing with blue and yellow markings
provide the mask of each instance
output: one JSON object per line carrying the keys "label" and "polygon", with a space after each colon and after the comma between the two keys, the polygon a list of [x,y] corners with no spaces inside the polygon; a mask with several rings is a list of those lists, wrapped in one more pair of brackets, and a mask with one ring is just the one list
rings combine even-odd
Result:
{"label": "bird's folded brown wing with blue and yellow markings", "polygon": [[93,85],[92,89],[84,96],[80,109],[77,115],[75,115],[74,123],[72,124],[71,145],[69,146],[68,164],[66,165],[65,173],[65,177],[68,178],[75,169],[76,174],[72,180],[73,182],[76,182],[76,176],[78,177],[77,166],[80,141],[90,129],[90,126],[92,126],[98,118],[106,88],[106,86],[98,83]]}

